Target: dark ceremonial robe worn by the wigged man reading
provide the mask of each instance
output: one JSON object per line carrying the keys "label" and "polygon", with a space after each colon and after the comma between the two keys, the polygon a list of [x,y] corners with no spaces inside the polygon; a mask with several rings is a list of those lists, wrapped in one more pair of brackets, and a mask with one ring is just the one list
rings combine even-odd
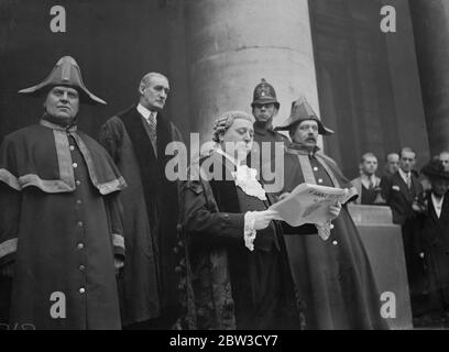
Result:
{"label": "dark ceremonial robe worn by the wigged man reading", "polygon": [[265,210],[272,199],[244,194],[217,153],[201,165],[212,160],[222,180],[194,179],[190,173],[182,188],[187,327],[300,329],[280,223],[258,231],[253,252],[244,245],[244,213]]}

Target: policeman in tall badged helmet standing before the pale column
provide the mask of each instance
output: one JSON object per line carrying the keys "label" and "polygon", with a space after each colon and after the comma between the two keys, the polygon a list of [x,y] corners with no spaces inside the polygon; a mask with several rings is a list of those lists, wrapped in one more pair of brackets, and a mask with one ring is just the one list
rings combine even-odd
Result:
{"label": "policeman in tall badged helmet standing before the pale column", "polygon": [[[258,158],[260,169],[262,166],[270,165],[273,170],[276,151],[280,156],[283,156],[284,146],[289,143],[288,138],[273,129],[273,119],[280,107],[281,103],[277,101],[273,86],[262,78],[254,88],[251,102],[252,114],[255,119],[253,157]],[[254,163],[252,165],[258,168]]]}

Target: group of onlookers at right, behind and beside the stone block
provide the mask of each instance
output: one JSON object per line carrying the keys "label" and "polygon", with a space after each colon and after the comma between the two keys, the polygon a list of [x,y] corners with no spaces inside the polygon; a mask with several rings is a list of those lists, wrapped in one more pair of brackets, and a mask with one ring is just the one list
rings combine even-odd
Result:
{"label": "group of onlookers at right, behind and beside the stone block", "polygon": [[403,147],[390,153],[377,176],[377,158],[365,153],[355,204],[388,206],[401,226],[407,278],[415,317],[449,318],[449,152],[435,155],[418,173],[416,152]]}

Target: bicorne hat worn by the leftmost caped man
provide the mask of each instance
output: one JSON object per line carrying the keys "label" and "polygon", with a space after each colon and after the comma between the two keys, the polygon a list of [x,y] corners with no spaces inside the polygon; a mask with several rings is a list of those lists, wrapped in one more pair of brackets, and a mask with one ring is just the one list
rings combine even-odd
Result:
{"label": "bicorne hat worn by the leftmost caped man", "polygon": [[78,64],[72,56],[64,56],[59,58],[56,66],[42,82],[36,86],[21,89],[19,92],[30,94],[33,96],[42,96],[46,94],[52,87],[67,86],[75,88],[79,94],[79,100],[88,105],[105,103],[106,101],[92,95],[84,85],[81,78],[81,70]]}

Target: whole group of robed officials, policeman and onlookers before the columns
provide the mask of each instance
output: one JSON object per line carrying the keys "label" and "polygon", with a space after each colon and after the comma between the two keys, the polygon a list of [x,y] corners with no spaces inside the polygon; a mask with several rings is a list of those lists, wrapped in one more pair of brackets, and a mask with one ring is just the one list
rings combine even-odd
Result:
{"label": "whole group of robed officials, policeman and onlookers before the columns", "polygon": [[[449,153],[423,168],[425,185],[408,147],[387,155],[382,178],[365,153],[350,182],[318,147],[319,135],[335,132],[305,98],[273,128],[280,102],[262,79],[252,114],[222,112],[211,128],[215,148],[186,179],[168,180],[166,147],[183,141],[164,113],[169,89],[164,75],[143,76],[135,103],[102,125],[99,143],[77,129],[78,112],[105,101],[74,58],[20,91],[41,97],[44,112],[0,146],[3,327],[388,329],[347,204],[329,205],[326,223],[299,227],[271,209],[303,183],[390,206],[410,287],[420,289],[414,275],[425,265],[432,305],[447,308]],[[264,167],[283,179],[280,189]]]}

